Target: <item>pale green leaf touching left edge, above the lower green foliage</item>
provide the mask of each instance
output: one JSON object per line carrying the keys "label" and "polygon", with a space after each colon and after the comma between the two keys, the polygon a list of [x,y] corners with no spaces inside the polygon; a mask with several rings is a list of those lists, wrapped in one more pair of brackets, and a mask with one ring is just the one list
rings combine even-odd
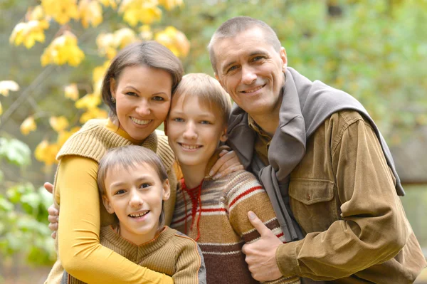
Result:
{"label": "pale green leaf touching left edge, above the lower green foliage", "polygon": [[11,164],[26,166],[31,163],[31,150],[19,140],[0,138],[0,157],[4,157]]}

